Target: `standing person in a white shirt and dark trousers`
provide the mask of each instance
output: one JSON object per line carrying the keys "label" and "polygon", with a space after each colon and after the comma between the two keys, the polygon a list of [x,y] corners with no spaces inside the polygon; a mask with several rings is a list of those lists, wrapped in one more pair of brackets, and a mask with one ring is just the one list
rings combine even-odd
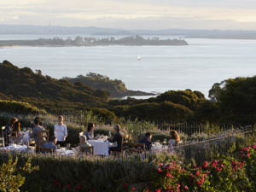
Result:
{"label": "standing person in a white shirt and dark trousers", "polygon": [[65,147],[65,141],[67,137],[67,126],[63,124],[63,117],[58,117],[58,123],[55,125],[55,137],[57,137],[57,144],[61,147]]}

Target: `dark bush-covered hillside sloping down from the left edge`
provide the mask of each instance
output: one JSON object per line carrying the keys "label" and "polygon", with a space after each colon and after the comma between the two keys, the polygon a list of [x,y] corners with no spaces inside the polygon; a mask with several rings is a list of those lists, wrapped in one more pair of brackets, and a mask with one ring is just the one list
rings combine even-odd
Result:
{"label": "dark bush-covered hillside sloping down from the left edge", "polygon": [[0,100],[29,102],[38,108],[79,110],[102,105],[110,96],[107,90],[94,90],[84,84],[52,79],[38,70],[15,67],[9,61],[0,63]]}

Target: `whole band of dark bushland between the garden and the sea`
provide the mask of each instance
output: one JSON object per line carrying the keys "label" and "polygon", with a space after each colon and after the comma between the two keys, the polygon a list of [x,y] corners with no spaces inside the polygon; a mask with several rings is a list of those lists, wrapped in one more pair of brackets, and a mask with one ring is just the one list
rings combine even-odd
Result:
{"label": "whole band of dark bushland between the garden and the sea", "polygon": [[[209,96],[215,96],[218,102],[208,101],[197,90],[168,90],[148,99],[128,97],[119,101],[111,99],[108,90],[124,92],[127,89],[121,80],[111,80],[96,73],[79,75],[76,79],[52,79],[42,75],[40,70],[33,73],[30,68],[15,67],[9,61],[0,65],[0,100],[28,102],[32,108],[49,113],[93,110],[96,115],[110,119],[126,117],[255,124],[256,76],[213,84]],[[32,111],[35,112],[34,109]],[[23,113],[26,113],[25,109]]]}

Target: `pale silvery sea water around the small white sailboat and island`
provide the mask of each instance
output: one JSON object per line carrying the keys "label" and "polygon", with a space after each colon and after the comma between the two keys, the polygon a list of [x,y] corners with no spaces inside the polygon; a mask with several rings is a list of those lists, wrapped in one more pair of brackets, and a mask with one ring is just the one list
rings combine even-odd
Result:
{"label": "pale silvery sea water around the small white sailboat and island", "polygon": [[[2,35],[0,40],[53,37]],[[162,93],[190,89],[206,97],[214,83],[256,74],[256,40],[185,40],[188,46],[4,47],[0,49],[0,61],[8,60],[33,71],[40,69],[55,79],[100,73],[121,79],[129,90]],[[137,61],[138,55],[141,61]]]}

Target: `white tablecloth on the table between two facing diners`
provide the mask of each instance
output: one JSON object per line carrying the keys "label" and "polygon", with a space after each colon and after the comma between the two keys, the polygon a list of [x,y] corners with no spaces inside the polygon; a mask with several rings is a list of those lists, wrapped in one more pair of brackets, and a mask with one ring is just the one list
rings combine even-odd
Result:
{"label": "white tablecloth on the table between two facing diners", "polygon": [[94,154],[101,154],[108,156],[108,148],[117,147],[117,143],[102,142],[101,140],[89,140],[87,143],[90,143],[93,146]]}

